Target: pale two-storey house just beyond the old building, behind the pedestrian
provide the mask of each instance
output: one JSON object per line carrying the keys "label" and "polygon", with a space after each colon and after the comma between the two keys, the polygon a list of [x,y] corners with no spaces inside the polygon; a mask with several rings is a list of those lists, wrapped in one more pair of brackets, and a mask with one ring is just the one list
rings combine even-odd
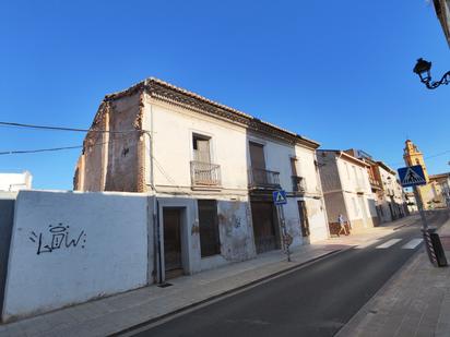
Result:
{"label": "pale two-storey house just beyond the old building, behind the pedestrian", "polygon": [[370,165],[343,151],[319,149],[317,154],[332,233],[340,214],[354,230],[378,224],[368,174]]}

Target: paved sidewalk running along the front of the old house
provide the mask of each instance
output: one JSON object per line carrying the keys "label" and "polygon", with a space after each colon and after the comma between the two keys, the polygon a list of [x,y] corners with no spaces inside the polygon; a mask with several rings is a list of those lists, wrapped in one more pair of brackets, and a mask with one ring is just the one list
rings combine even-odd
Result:
{"label": "paved sidewalk running along the front of the old house", "polygon": [[273,251],[250,261],[170,279],[173,286],[167,288],[150,286],[0,325],[0,336],[69,337],[119,333],[384,237],[392,233],[395,227],[414,221],[415,217],[406,217],[390,222],[390,226],[370,228],[350,237],[332,238],[296,248],[292,252],[292,262],[286,262],[282,251]]}

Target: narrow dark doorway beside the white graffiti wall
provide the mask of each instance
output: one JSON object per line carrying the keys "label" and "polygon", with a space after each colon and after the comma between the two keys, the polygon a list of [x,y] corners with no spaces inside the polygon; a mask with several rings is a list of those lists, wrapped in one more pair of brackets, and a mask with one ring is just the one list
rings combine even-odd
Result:
{"label": "narrow dark doorway beside the white graffiti wall", "polygon": [[164,267],[166,278],[182,275],[181,208],[163,208]]}

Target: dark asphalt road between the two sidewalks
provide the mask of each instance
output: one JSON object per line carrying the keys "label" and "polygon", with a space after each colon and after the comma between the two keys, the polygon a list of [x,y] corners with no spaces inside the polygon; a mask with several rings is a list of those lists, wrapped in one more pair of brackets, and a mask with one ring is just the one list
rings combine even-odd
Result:
{"label": "dark asphalt road between the two sidewalks", "polygon": [[[429,216],[440,226],[447,213]],[[399,229],[372,245],[318,261],[246,291],[226,297],[135,336],[333,336],[416,252],[402,249],[422,238],[419,222]],[[387,248],[378,245],[402,239]]]}

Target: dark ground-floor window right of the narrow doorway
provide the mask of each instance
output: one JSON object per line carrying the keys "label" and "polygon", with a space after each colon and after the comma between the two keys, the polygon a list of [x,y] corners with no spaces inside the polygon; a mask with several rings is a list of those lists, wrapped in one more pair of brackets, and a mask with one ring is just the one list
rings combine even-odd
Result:
{"label": "dark ground-floor window right of the narrow doorway", "polygon": [[217,202],[199,200],[200,251],[202,257],[221,253],[218,236]]}

